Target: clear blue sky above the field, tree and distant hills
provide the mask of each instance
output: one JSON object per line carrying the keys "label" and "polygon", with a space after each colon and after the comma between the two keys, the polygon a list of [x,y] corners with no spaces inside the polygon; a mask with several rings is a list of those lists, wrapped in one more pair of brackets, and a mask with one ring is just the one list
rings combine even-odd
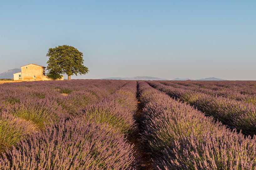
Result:
{"label": "clear blue sky above the field, tree and distant hills", "polygon": [[256,1],[0,1],[0,72],[76,47],[90,72],[256,80]]}

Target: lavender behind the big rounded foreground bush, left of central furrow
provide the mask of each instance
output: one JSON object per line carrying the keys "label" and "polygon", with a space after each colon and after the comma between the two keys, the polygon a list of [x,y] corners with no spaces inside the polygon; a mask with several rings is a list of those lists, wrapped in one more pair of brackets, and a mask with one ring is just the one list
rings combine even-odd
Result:
{"label": "lavender behind the big rounded foreground bush, left of central furrow", "polygon": [[130,81],[101,102],[89,105],[78,114],[81,116],[80,119],[107,123],[123,134],[133,133],[136,129],[136,85],[135,81]]}

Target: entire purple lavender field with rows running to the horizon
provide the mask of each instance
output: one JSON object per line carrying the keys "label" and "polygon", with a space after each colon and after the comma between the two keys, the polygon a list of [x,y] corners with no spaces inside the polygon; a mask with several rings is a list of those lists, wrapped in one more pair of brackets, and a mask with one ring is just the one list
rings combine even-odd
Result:
{"label": "entire purple lavender field with rows running to the horizon", "polygon": [[0,170],[254,170],[255,81],[0,85]]}

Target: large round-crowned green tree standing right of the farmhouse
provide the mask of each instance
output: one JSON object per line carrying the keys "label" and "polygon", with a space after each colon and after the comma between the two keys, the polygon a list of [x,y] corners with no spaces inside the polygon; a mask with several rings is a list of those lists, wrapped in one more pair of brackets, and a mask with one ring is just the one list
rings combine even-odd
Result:
{"label": "large round-crowned green tree standing right of the farmhouse", "polygon": [[56,76],[56,74],[67,74],[68,80],[71,75],[80,75],[88,73],[88,68],[84,66],[83,53],[75,47],[63,45],[50,48],[46,54],[49,57],[47,61],[47,70]]}

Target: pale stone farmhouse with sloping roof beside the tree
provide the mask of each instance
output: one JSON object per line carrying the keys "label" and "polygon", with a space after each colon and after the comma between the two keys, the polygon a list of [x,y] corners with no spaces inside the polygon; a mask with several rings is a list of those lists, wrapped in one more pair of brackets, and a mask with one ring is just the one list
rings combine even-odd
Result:
{"label": "pale stone farmhouse with sloping roof beside the tree", "polygon": [[[21,72],[13,74],[13,80],[36,81],[51,80],[45,75],[45,67],[37,64],[21,66]],[[63,80],[63,76],[60,80]]]}

